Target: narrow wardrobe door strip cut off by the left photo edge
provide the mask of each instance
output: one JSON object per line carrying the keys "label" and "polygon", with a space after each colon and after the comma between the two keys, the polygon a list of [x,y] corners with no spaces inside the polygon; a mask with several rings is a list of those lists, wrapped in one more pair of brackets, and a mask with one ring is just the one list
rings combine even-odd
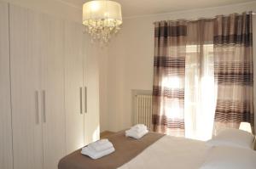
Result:
{"label": "narrow wardrobe door strip cut off by the left photo edge", "polygon": [[9,81],[9,7],[0,2],[0,168],[13,168]]}

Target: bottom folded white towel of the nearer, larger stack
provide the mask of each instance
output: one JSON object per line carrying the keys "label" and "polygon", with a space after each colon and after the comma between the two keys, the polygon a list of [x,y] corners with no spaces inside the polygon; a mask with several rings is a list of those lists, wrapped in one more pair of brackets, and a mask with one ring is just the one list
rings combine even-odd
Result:
{"label": "bottom folded white towel of the nearer, larger stack", "polygon": [[92,148],[86,146],[82,149],[81,153],[83,155],[88,155],[88,156],[90,156],[90,158],[96,160],[96,159],[101,158],[102,156],[109,155],[109,154],[113,153],[113,151],[114,151],[113,147],[110,149],[105,149],[103,151],[97,152],[95,149],[92,149]]}

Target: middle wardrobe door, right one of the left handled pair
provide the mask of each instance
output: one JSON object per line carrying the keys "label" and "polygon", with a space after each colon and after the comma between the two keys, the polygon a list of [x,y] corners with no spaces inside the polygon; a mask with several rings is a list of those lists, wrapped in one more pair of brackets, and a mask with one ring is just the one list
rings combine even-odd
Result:
{"label": "middle wardrobe door, right one of the left handled pair", "polygon": [[42,112],[44,169],[56,169],[66,155],[66,116],[64,110],[64,23],[44,15],[44,58],[42,61]]}

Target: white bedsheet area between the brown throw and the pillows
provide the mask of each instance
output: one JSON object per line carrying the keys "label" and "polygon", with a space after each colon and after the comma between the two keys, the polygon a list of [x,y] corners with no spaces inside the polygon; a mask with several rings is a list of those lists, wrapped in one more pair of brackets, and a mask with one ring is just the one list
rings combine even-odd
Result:
{"label": "white bedsheet area between the brown throw and the pillows", "polygon": [[205,142],[164,136],[119,169],[198,169],[208,149]]}

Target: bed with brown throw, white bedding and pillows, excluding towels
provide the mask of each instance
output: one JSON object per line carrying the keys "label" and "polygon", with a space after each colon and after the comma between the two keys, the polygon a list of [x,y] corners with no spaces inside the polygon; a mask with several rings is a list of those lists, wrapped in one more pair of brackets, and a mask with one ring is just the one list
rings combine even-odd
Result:
{"label": "bed with brown throw, white bedding and pillows, excluding towels", "polygon": [[[255,169],[251,133],[226,129],[208,142],[148,132],[143,138],[126,138],[125,132],[108,137],[115,151],[98,160],[80,153],[67,155],[59,169]],[[255,144],[254,144],[255,145]]]}

